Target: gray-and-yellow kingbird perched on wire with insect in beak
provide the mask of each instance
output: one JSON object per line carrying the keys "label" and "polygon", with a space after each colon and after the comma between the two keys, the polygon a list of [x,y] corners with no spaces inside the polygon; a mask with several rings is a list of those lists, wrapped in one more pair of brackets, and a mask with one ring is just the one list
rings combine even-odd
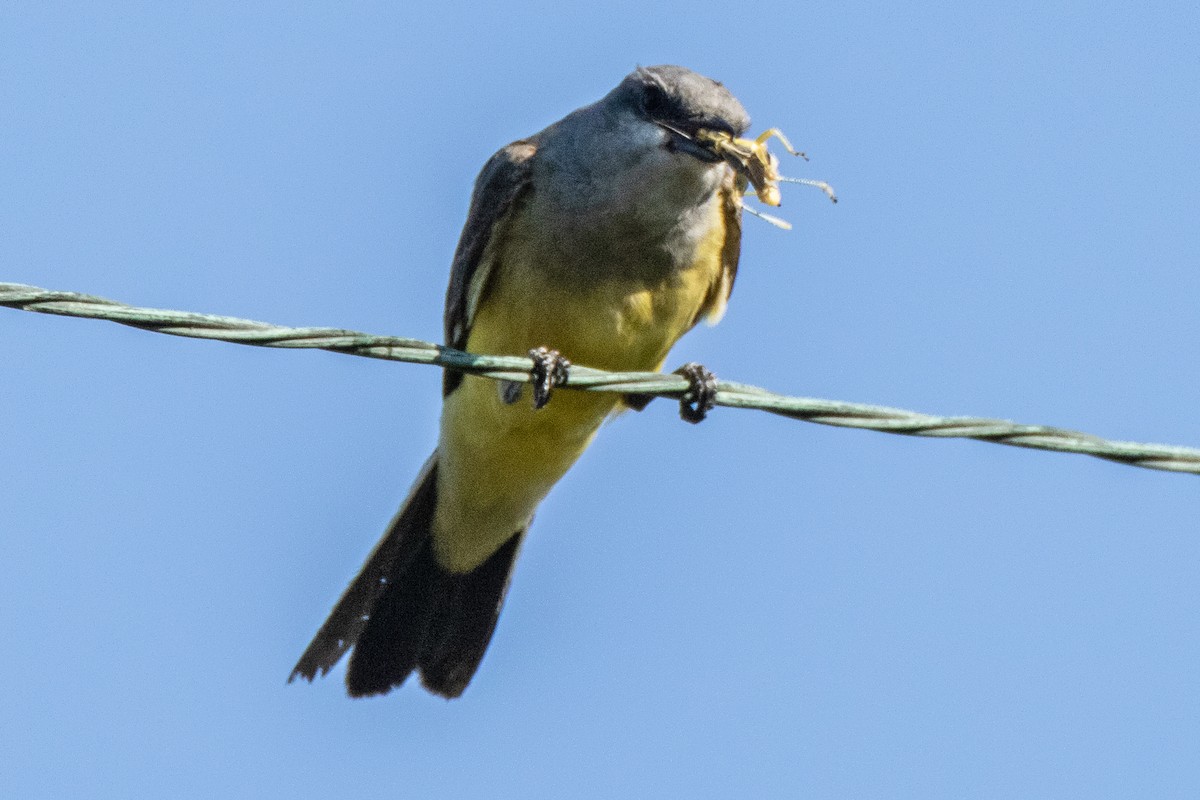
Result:
{"label": "gray-and-yellow kingbird perched on wire with insect in beak", "polygon": [[[312,680],[353,648],[354,697],[386,693],[414,670],[436,694],[463,692],[538,504],[605,417],[646,402],[559,392],[538,410],[562,380],[557,353],[656,371],[697,321],[721,317],[742,194],[766,180],[738,162],[754,156],[749,166],[778,178],[761,148],[736,158],[719,146],[752,148],[738,138],[749,125],[720,83],[647,67],[492,156],[455,252],[445,341],[470,353],[530,351],[541,396],[535,386],[534,404],[517,402],[523,384],[444,373],[437,449],[290,679]],[[703,380],[689,374],[701,393]]]}

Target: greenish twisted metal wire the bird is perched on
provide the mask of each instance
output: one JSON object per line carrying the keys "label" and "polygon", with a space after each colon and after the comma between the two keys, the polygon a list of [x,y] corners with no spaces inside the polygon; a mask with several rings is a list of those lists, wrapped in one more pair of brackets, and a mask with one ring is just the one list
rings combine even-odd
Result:
{"label": "greenish twisted metal wire the bird is perched on", "polygon": [[[368,359],[430,363],[496,380],[528,383],[530,379],[530,360],[527,356],[474,355],[432,342],[376,336],[337,327],[286,327],[236,317],[138,308],[92,295],[52,291],[20,283],[0,283],[0,306],[43,314],[106,319],[172,336],[258,347],[314,348]],[[689,381],[680,375],[658,372],[605,372],[572,366],[569,384],[560,386],[559,390],[653,395],[678,399],[689,387]],[[716,405],[758,409],[817,425],[912,437],[974,439],[1014,447],[1081,453],[1145,469],[1200,474],[1198,449],[1112,441],[1044,425],[1019,425],[1008,420],[973,416],[934,416],[884,405],[791,397],[728,380],[716,383],[715,402]]]}

